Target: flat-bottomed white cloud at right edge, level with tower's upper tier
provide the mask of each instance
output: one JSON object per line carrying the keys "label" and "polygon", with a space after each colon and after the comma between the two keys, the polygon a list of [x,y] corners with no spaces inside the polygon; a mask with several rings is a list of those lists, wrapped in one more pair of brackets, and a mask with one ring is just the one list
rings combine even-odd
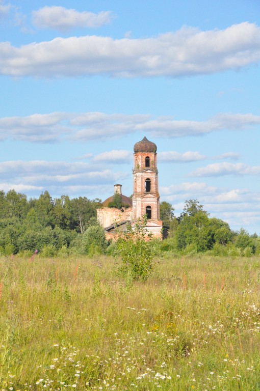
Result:
{"label": "flat-bottomed white cloud at right edge, level with tower's upper tier", "polygon": [[260,166],[249,166],[245,163],[213,163],[193,171],[193,177],[218,177],[223,175],[260,175]]}

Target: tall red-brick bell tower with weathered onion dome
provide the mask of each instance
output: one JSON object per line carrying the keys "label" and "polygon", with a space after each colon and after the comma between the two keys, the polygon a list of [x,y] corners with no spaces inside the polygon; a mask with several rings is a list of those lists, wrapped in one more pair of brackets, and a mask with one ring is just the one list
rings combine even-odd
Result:
{"label": "tall red-brick bell tower with weathered onion dome", "polygon": [[[147,215],[147,228],[158,227],[161,235],[160,195],[158,190],[157,146],[146,137],[134,146],[133,220]],[[158,235],[158,229],[149,229]]]}

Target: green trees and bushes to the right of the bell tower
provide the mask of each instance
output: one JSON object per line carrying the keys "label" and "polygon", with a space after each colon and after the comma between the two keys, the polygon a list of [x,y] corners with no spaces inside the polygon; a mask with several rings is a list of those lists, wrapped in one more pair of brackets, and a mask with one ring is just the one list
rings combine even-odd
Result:
{"label": "green trees and bushes to the right of the bell tower", "polygon": [[185,202],[184,210],[178,217],[167,202],[160,206],[168,238],[162,246],[184,254],[211,252],[214,255],[250,256],[260,254],[260,238],[241,228],[232,231],[227,222],[210,217],[198,200]]}

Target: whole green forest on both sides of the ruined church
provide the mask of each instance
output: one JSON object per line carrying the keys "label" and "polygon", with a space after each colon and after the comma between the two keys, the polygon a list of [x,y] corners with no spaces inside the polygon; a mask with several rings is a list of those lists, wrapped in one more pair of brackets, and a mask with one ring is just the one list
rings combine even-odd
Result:
{"label": "whole green forest on both sides of the ruined church", "polygon": [[[98,225],[99,199],[51,198],[48,191],[38,199],[10,190],[0,191],[0,255],[45,257],[69,254],[112,254],[115,243],[106,241]],[[155,253],[209,253],[219,256],[260,254],[260,238],[241,228],[232,231],[227,222],[210,218],[198,200],[186,201],[179,217],[170,203],[162,202],[160,215],[164,224],[163,242],[153,239]]]}

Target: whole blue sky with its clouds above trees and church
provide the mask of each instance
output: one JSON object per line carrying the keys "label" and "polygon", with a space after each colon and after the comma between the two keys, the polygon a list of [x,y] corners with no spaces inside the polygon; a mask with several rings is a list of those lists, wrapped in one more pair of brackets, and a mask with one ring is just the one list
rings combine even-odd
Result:
{"label": "whole blue sky with its clouds above trees and church", "polygon": [[161,201],[260,233],[258,0],[0,0],[0,189],[133,192],[158,146]]}

